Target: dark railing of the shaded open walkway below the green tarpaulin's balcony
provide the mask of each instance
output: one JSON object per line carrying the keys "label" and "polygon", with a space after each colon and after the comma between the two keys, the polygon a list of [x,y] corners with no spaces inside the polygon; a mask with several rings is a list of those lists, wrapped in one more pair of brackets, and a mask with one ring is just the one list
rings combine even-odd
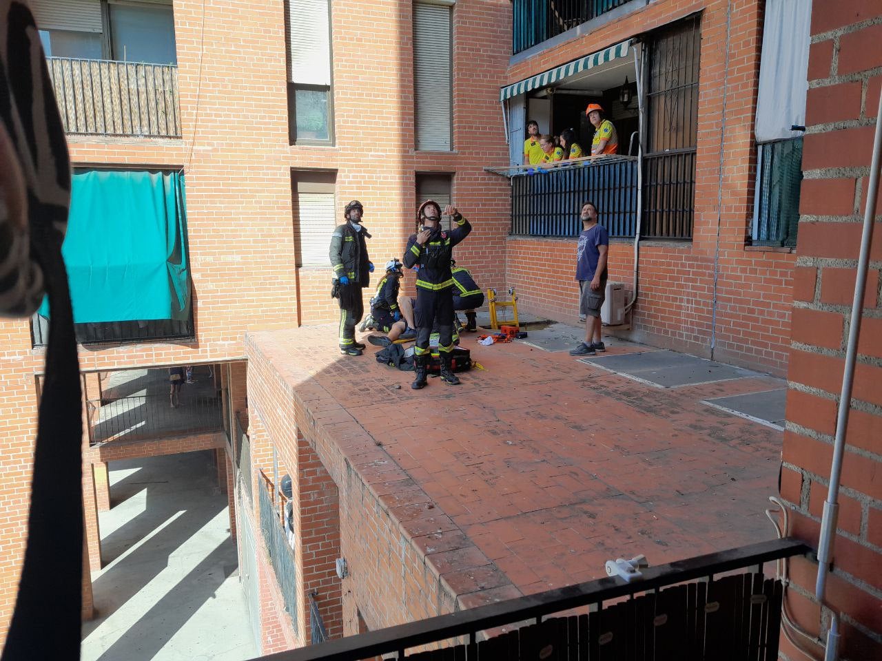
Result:
{"label": "dark railing of the shaded open walkway below the green tarpaulin's balcony", "polygon": [[[183,385],[183,389],[191,386]],[[105,405],[90,401],[92,445],[108,441],[137,441],[181,434],[215,432],[223,429],[220,397],[189,396],[180,393],[181,405],[168,402],[168,390],[161,393],[120,397]]]}

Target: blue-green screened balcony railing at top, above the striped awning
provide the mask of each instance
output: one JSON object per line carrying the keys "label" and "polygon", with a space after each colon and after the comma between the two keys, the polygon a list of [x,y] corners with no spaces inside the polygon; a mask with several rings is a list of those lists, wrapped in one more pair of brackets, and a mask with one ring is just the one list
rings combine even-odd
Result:
{"label": "blue-green screened balcony railing at top, above the striped awning", "polygon": [[631,0],[513,0],[512,54],[517,55]]}

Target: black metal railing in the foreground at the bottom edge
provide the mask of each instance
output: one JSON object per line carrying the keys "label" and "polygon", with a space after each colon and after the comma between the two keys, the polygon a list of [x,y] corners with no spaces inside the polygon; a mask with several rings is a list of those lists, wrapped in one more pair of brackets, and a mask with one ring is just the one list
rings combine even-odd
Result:
{"label": "black metal railing in the foreground at the bottom edge", "polygon": [[[810,551],[798,539],[775,539],[647,568],[636,583],[602,578],[263,658],[402,659],[409,649],[453,643],[408,658],[775,661],[781,583],[766,579],[763,565]],[[756,574],[718,577],[744,568]],[[628,599],[604,605],[622,598]],[[548,618],[586,607],[589,613]],[[524,621],[534,624],[477,640],[482,632]]]}

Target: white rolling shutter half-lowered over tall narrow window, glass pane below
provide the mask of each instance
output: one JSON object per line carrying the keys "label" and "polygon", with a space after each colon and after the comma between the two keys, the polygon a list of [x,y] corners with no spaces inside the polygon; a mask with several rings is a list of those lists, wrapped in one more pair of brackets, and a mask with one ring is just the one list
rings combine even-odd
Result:
{"label": "white rolling shutter half-lowered over tall narrow window, glass pane below", "polygon": [[331,29],[328,0],[288,0],[291,82],[331,85]]}

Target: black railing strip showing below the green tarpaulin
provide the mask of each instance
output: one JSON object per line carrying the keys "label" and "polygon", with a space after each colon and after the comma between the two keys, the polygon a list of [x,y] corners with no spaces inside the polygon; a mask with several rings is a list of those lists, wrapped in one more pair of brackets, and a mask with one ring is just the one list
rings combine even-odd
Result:
{"label": "black railing strip showing below the green tarpaulin", "polygon": [[[80,345],[105,342],[153,342],[156,340],[187,340],[194,337],[193,316],[190,319],[151,319],[140,322],[75,323],[73,331]],[[49,343],[49,319],[31,317],[31,339],[34,346]]]}

